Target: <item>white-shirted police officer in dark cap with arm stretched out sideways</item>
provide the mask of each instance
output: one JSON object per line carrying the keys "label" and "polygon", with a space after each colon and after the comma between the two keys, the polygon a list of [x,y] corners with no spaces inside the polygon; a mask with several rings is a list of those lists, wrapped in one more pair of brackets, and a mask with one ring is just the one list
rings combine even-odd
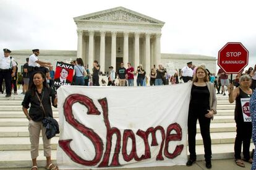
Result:
{"label": "white-shirted police officer in dark cap with arm stretched out sideways", "polygon": [[40,70],[41,67],[51,67],[51,62],[44,62],[38,59],[40,54],[39,49],[33,49],[33,54],[28,59],[28,74],[30,76],[29,82],[33,82],[32,75],[33,72]]}

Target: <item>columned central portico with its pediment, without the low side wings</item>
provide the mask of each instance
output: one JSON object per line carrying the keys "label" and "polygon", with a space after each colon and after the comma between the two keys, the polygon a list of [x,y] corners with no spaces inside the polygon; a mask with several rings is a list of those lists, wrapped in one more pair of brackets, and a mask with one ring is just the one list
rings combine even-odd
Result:
{"label": "columned central portico with its pediment, without the low side wings", "polygon": [[77,57],[88,63],[100,63],[101,71],[109,66],[118,69],[121,62],[137,67],[142,64],[147,73],[153,64],[161,62],[160,38],[164,22],[124,7],[82,15],[77,24]]}

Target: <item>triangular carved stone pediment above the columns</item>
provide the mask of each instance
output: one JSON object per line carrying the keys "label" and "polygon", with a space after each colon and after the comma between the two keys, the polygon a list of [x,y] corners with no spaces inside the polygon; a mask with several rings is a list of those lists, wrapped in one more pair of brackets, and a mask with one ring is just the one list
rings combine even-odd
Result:
{"label": "triangular carved stone pediment above the columns", "polygon": [[138,12],[131,11],[124,7],[116,7],[105,11],[75,17],[74,20],[92,20],[101,22],[135,22],[135,23],[156,23],[163,25],[164,22],[153,19]]}

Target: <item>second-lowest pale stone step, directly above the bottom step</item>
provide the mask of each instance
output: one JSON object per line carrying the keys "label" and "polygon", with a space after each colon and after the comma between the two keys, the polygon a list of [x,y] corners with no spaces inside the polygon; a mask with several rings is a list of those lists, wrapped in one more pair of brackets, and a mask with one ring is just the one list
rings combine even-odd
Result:
{"label": "second-lowest pale stone step, directly above the bottom step", "polygon": [[[236,132],[213,132],[211,133],[212,144],[234,143]],[[51,139],[51,146],[56,149],[59,137]],[[196,135],[196,144],[202,145],[203,140],[200,134]],[[40,137],[40,150],[43,149],[43,140]],[[0,150],[30,150],[29,137],[0,137]]]}

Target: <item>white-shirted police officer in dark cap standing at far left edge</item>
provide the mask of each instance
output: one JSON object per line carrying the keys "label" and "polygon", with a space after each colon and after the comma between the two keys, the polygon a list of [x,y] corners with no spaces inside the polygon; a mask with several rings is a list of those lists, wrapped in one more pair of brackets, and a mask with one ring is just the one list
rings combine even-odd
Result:
{"label": "white-shirted police officer in dark cap standing at far left edge", "polygon": [[11,79],[15,76],[16,62],[14,58],[10,57],[12,52],[10,49],[3,49],[4,56],[0,57],[0,86],[2,87],[2,81],[6,82],[6,97],[11,96]]}

